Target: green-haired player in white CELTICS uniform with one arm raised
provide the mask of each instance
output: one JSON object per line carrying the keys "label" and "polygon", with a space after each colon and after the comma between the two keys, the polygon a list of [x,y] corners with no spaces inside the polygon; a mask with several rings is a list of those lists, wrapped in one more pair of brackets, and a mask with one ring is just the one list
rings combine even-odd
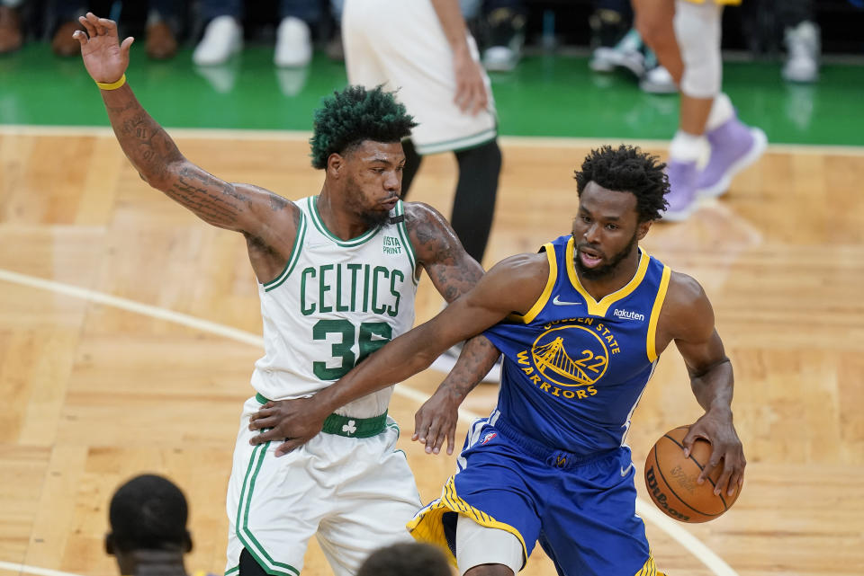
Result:
{"label": "green-haired player in white CELTICS uniform with one arm raised", "polygon": [[[180,154],[136,100],[125,71],[132,39],[93,13],[76,32],[114,133],[141,177],[213,226],[246,238],[264,316],[265,356],[244,406],[228,493],[226,575],[298,576],[317,536],[337,576],[354,574],[375,548],[410,541],[420,507],[399,430],[387,416],[392,388],[333,413],[302,450],[275,457],[255,447],[249,416],[270,400],[315,394],[414,322],[420,271],[453,301],[482,268],[444,217],[399,199],[401,139],[414,126],[379,87],[330,97],[315,114],[312,165],[320,194],[296,202],[221,181]],[[469,342],[464,353],[485,342]],[[478,350],[479,351],[479,350]]]}

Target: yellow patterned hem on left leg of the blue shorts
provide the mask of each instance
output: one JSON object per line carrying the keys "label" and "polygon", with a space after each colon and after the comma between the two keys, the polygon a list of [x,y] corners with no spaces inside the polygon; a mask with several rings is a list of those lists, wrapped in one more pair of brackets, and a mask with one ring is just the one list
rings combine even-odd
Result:
{"label": "yellow patterned hem on left leg of the blue shorts", "polygon": [[454,476],[450,476],[450,478],[447,479],[447,483],[441,491],[441,497],[436,501],[430,502],[423,509],[419,510],[406,527],[408,528],[410,535],[414,536],[416,540],[419,540],[420,542],[428,542],[440,548],[446,555],[447,560],[449,560],[455,567],[456,557],[450,550],[450,546],[447,545],[447,538],[444,534],[444,523],[442,517],[446,512],[462,514],[467,518],[473,519],[474,522],[477,522],[477,524],[480,524],[481,526],[505,530],[513,536],[516,536],[519,540],[519,544],[522,545],[522,566],[525,566],[528,557],[527,547],[525,545],[525,539],[521,534],[519,534],[519,531],[509,524],[499,522],[489,514],[474,508],[468,504],[468,502],[459,498],[459,495],[456,494]]}

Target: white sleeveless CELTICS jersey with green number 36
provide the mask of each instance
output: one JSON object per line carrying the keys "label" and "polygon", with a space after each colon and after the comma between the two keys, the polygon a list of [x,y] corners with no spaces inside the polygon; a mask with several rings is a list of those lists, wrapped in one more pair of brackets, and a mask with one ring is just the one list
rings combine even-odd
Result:
{"label": "white sleeveless CELTICS jersey with green number 36", "polygon": [[[417,259],[398,202],[391,218],[351,240],[329,232],[316,207],[301,208],[294,250],[285,269],[258,285],[264,317],[264,358],[252,386],[270,400],[314,394],[414,324]],[[358,418],[382,414],[392,386],[340,408]]]}

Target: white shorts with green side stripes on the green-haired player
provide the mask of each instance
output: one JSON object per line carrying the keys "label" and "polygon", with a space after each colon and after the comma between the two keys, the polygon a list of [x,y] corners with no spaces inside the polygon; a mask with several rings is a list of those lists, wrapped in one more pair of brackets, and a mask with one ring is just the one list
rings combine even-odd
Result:
{"label": "white shorts with green side stripes on the green-haired player", "polygon": [[266,572],[297,576],[312,536],[336,576],[355,574],[374,549],[412,542],[405,524],[420,497],[405,454],[396,450],[399,428],[387,419],[372,438],[320,433],[290,454],[275,457],[278,442],[256,447],[249,417],[261,407],[243,405],[228,486],[228,563],[238,572],[246,547]]}

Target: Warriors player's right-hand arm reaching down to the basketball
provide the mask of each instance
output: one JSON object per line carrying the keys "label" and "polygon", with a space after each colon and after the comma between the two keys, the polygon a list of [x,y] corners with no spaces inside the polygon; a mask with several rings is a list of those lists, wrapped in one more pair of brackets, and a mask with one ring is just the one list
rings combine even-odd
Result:
{"label": "Warriors player's right-hand arm reaching down to the basketball", "polygon": [[663,306],[662,326],[678,346],[687,365],[690,388],[705,410],[684,437],[684,452],[689,455],[697,438],[711,442],[711,457],[699,474],[698,482],[703,483],[723,459],[723,472],[714,492],[719,494],[725,490],[732,495],[741,489],[747,465],[732,421],[732,364],[715,329],[711,303],[696,280],[684,274],[672,274],[667,304]]}

